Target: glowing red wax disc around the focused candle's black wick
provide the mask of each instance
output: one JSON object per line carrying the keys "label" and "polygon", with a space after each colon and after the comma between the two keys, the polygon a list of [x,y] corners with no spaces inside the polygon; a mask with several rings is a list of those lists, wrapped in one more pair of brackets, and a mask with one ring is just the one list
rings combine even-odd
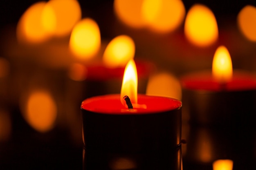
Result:
{"label": "glowing red wax disc around the focused candle's black wick", "polygon": [[[106,100],[108,98],[108,100]],[[154,102],[157,102],[161,100],[161,102],[158,102],[158,105],[151,106],[154,102],[149,103],[140,103],[140,102],[148,102],[148,100],[152,100]],[[99,106],[98,108],[94,108],[95,103],[97,100],[101,100],[101,102],[110,102],[110,100],[115,100],[115,103],[118,104],[116,108],[112,109],[103,109],[104,106]],[[164,104],[168,102],[174,102],[174,105],[166,106]],[[93,103],[93,104],[92,104]],[[91,104],[91,106],[90,106]],[[83,100],[81,104],[81,109],[88,110],[93,113],[99,113],[99,114],[108,114],[108,115],[144,115],[144,114],[157,114],[157,113],[164,113],[172,110],[179,110],[182,108],[182,102],[178,99],[170,98],[170,97],[162,97],[162,96],[150,96],[150,95],[142,95],[138,94],[138,104],[146,104],[147,108],[134,108],[133,111],[129,110],[128,108],[125,108],[121,102],[120,102],[120,94],[109,94],[109,95],[100,95],[100,96],[94,96],[87,98]],[[104,105],[104,104],[103,104]],[[160,107],[160,108],[159,108]]]}

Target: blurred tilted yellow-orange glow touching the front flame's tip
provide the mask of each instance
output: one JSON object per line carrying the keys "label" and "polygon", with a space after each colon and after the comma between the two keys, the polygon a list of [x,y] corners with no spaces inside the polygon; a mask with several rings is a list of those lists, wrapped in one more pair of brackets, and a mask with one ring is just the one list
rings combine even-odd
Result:
{"label": "blurred tilted yellow-orange glow touching the front flame's tip", "polygon": [[126,66],[134,58],[135,44],[127,35],[119,35],[106,47],[103,54],[103,63],[110,68]]}

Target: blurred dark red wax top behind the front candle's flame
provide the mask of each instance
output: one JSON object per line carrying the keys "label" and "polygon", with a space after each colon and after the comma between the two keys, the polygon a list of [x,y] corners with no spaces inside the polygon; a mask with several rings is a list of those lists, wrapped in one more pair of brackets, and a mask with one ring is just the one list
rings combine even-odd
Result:
{"label": "blurred dark red wax top behind the front candle's flame", "polygon": [[[151,71],[154,69],[152,63],[135,61],[137,72],[139,77],[148,77]],[[93,66],[88,66],[87,79],[91,80],[106,80],[113,78],[122,79],[124,76],[124,68],[107,68],[103,64],[95,64]]]}

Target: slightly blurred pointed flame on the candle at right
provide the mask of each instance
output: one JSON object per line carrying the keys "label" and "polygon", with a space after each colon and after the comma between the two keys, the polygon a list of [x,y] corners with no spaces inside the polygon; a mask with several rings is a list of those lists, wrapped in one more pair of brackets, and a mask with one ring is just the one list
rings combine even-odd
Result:
{"label": "slightly blurred pointed flame on the candle at right", "polygon": [[212,74],[213,78],[220,83],[226,83],[232,79],[232,61],[225,46],[219,46],[214,54]]}

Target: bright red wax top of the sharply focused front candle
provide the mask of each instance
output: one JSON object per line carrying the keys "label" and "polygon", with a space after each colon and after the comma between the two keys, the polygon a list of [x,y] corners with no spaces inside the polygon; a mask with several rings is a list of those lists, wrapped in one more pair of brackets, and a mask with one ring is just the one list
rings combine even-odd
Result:
{"label": "bright red wax top of the sharply focused front candle", "polygon": [[102,95],[85,99],[81,108],[96,113],[106,114],[148,114],[175,110],[182,106],[177,99],[158,96],[138,95],[138,104],[146,105],[146,108],[135,108],[128,110],[121,104],[120,95]]}

